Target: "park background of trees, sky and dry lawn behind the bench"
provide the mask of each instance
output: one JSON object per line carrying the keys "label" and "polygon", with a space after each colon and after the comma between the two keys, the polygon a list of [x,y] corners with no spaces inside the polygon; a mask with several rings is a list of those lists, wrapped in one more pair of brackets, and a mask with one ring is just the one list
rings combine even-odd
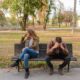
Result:
{"label": "park background of trees, sky and dry lawn behind the bench", "polygon": [[[80,1],[71,0],[0,0],[0,67],[8,67],[14,56],[14,44],[20,43],[28,28],[36,30],[40,43],[48,43],[52,37],[61,36],[73,44],[80,67]],[[67,6],[64,4],[70,4]],[[78,7],[77,7],[78,6]],[[31,63],[32,67],[45,65]]]}

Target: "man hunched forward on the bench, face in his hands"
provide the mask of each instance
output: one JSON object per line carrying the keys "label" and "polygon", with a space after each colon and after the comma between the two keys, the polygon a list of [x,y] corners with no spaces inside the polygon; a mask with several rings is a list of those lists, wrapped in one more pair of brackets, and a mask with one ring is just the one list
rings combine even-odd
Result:
{"label": "man hunched forward on the bench, face in his hands", "polygon": [[66,44],[63,43],[61,37],[56,37],[55,40],[51,40],[47,45],[46,62],[50,69],[50,75],[54,71],[53,65],[50,62],[53,59],[62,59],[64,61],[58,68],[59,73],[63,75],[63,68],[69,63],[70,56]]}

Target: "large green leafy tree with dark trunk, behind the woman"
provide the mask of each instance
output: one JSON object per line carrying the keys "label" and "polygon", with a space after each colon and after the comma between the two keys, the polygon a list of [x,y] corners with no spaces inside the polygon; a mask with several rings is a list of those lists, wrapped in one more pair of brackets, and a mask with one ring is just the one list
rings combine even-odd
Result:
{"label": "large green leafy tree with dark trunk, behind the woman", "polygon": [[28,16],[35,16],[36,10],[39,10],[43,5],[42,0],[4,0],[2,8],[9,9],[17,18],[20,18],[22,30],[26,30]]}

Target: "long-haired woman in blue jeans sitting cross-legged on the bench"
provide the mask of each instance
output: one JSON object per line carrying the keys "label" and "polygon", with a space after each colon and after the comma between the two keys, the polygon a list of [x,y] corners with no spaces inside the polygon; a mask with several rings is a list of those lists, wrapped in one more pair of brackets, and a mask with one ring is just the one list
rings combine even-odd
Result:
{"label": "long-haired woman in blue jeans sitting cross-legged on the bench", "polygon": [[25,68],[25,78],[29,77],[29,59],[37,58],[39,54],[39,38],[36,33],[32,29],[27,30],[27,34],[25,34],[21,43],[25,43],[25,48],[23,48],[19,58],[11,64],[11,67],[18,66],[21,60],[24,60],[24,68]]}

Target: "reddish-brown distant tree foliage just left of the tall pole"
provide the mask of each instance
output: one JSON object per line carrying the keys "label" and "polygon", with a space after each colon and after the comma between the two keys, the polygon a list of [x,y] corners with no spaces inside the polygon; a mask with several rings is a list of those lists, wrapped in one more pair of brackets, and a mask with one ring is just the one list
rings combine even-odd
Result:
{"label": "reddish-brown distant tree foliage just left of the tall pole", "polygon": [[[72,24],[73,22],[73,12],[72,11],[63,11],[63,12],[59,12],[58,13],[58,23],[59,23],[59,27],[61,26],[60,24],[65,23],[66,26],[68,24]],[[54,19],[53,19],[54,20]],[[56,20],[56,18],[55,18]],[[69,26],[70,26],[69,25]]]}

